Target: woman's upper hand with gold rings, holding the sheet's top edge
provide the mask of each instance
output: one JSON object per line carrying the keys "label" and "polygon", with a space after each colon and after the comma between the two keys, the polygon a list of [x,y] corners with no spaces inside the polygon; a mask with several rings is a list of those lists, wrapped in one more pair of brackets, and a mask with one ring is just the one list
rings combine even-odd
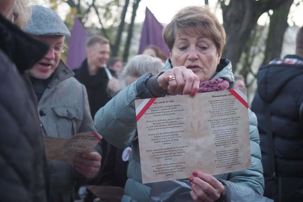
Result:
{"label": "woman's upper hand with gold rings, holding the sheet's top edge", "polygon": [[[169,80],[169,76],[175,76],[175,79]],[[165,71],[158,77],[158,84],[170,95],[190,94],[194,96],[198,89],[200,80],[197,75],[186,67],[173,67]]]}

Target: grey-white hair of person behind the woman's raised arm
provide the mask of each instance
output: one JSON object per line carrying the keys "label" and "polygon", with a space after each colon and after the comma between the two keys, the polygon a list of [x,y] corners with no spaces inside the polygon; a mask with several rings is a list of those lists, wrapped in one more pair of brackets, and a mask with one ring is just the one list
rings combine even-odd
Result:
{"label": "grey-white hair of person behind the woman's raised arm", "polygon": [[[124,89],[127,86],[127,81],[130,76],[141,77],[148,72],[158,74],[164,67],[164,63],[160,58],[154,58],[149,55],[136,55],[132,58],[122,72],[118,75],[120,81],[120,89]],[[114,97],[118,92],[109,93]]]}

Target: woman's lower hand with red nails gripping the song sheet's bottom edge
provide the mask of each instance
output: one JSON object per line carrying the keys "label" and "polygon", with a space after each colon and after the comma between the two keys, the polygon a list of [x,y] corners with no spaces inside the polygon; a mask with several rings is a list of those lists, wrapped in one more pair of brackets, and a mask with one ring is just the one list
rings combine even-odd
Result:
{"label": "woman's lower hand with red nails gripping the song sheet's bottom edge", "polygon": [[188,179],[192,188],[190,196],[194,201],[213,202],[220,198],[224,186],[214,176],[200,171],[194,171],[193,175]]}

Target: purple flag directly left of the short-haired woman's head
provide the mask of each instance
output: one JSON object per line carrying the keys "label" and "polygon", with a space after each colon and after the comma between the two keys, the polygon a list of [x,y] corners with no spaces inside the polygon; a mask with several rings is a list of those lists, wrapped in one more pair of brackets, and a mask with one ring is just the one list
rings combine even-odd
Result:
{"label": "purple flag directly left of the short-haired woman's head", "polygon": [[158,46],[164,54],[169,56],[169,50],[162,38],[163,26],[158,22],[152,12],[146,7],[143,23],[139,54],[142,54],[147,45]]}

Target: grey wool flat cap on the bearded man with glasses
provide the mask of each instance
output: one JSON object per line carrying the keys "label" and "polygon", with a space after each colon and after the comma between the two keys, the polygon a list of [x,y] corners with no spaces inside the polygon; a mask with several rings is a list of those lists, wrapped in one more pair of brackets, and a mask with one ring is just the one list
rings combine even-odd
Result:
{"label": "grey wool flat cap on the bearded man with glasses", "polygon": [[59,15],[50,8],[32,6],[32,17],[24,32],[36,36],[63,35],[70,37],[70,31]]}

